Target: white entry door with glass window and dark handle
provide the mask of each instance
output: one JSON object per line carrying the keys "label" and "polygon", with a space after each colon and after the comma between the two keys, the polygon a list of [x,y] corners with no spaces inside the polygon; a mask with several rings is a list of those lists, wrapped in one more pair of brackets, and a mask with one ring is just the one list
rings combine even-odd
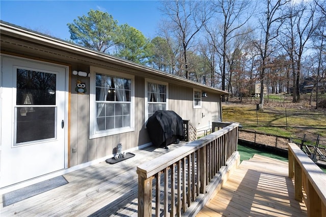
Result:
{"label": "white entry door with glass window and dark handle", "polygon": [[2,57],[0,188],[65,168],[67,67]]}

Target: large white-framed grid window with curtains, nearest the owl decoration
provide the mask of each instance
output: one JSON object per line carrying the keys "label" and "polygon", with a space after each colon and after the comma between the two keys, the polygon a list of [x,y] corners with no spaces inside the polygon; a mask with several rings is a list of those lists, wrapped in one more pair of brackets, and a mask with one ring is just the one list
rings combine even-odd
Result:
{"label": "large white-framed grid window with curtains, nearest the owl decoration", "polygon": [[133,131],[133,76],[95,67],[91,74],[90,137]]}

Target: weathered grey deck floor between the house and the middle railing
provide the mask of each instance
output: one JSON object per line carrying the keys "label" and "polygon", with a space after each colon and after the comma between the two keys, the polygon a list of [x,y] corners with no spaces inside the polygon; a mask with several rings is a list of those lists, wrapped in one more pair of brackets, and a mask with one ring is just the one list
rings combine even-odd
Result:
{"label": "weathered grey deck floor between the house and the middle railing", "polygon": [[137,166],[183,145],[169,149],[135,150],[133,158],[105,162],[63,175],[69,183],[3,207],[0,216],[137,216]]}

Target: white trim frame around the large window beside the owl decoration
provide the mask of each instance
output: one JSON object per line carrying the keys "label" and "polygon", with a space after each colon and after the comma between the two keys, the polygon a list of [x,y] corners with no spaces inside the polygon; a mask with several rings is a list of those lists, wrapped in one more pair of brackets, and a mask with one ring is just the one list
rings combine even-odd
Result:
{"label": "white trim frame around the large window beside the owl decoration", "polygon": [[[130,106],[130,128],[121,128],[121,129],[111,129],[106,130],[103,132],[96,132],[96,90],[95,90],[95,79],[96,79],[96,73],[104,74],[104,75],[111,75],[111,76],[117,76],[121,78],[128,78],[131,79],[131,106]],[[134,76],[115,72],[111,70],[106,70],[98,67],[90,67],[90,139],[104,137],[104,136],[111,136],[115,134],[121,134],[121,133],[127,133],[134,131]]]}

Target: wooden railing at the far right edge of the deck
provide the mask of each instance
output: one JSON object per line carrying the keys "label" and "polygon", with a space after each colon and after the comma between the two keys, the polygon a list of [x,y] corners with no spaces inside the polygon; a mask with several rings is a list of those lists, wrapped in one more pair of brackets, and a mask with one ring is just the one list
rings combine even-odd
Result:
{"label": "wooden railing at the far right edge of the deck", "polygon": [[326,174],[296,144],[288,143],[288,147],[295,200],[304,200],[308,216],[326,216]]}

